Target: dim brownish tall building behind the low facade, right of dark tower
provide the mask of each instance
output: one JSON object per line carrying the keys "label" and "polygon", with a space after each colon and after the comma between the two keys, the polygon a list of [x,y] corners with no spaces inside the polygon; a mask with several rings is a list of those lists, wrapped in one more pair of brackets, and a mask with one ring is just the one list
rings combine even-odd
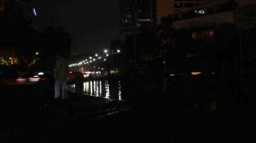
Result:
{"label": "dim brownish tall building behind the low facade, right of dark tower", "polygon": [[195,8],[202,8],[206,5],[211,5],[220,1],[223,0],[158,0],[158,23],[161,21],[162,17],[166,17],[169,14],[175,14]]}

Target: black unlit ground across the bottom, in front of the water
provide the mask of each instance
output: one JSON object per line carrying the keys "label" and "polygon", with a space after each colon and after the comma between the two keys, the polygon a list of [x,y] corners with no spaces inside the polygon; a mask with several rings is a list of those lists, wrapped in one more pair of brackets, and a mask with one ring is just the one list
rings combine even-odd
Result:
{"label": "black unlit ground across the bottom, in front of the water", "polygon": [[41,92],[12,93],[2,100],[1,142],[256,141],[254,104],[192,110],[167,97],[122,102],[72,93],[40,104],[33,99]]}

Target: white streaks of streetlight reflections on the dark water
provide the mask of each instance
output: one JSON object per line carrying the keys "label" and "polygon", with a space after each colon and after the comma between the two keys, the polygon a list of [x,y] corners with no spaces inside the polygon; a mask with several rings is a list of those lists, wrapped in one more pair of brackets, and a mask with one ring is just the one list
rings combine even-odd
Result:
{"label": "white streaks of streetlight reflections on the dark water", "polygon": [[69,85],[69,91],[110,100],[122,100],[121,81],[85,81],[80,87],[81,91],[77,90],[77,87],[75,84]]}

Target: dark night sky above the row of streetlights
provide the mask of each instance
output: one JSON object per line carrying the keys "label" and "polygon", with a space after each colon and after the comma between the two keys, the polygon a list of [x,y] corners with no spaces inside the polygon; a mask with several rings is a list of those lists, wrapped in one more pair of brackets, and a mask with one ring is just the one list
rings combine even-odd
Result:
{"label": "dark night sky above the row of streetlights", "polygon": [[66,27],[74,52],[96,52],[120,37],[120,0],[37,0],[38,29]]}

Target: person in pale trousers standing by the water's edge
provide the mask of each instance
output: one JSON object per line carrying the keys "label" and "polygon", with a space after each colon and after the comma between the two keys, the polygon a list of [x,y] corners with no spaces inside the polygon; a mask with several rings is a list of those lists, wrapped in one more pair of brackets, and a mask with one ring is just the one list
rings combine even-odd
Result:
{"label": "person in pale trousers standing by the water's edge", "polygon": [[55,93],[56,100],[66,100],[68,98],[67,91],[67,76],[68,76],[68,62],[64,56],[58,54],[56,56],[56,68],[54,71],[55,78]]}

